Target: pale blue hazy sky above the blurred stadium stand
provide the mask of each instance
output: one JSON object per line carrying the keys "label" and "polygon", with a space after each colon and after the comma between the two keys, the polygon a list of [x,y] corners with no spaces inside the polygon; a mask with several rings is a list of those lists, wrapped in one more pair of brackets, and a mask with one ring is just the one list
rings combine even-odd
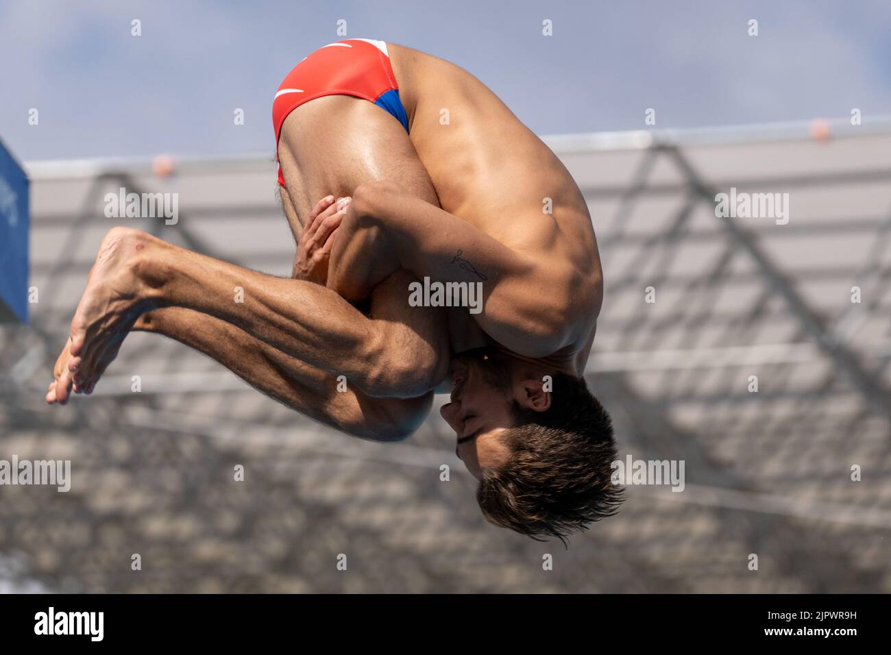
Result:
{"label": "pale blue hazy sky above the blurred stadium stand", "polygon": [[639,129],[650,107],[656,127],[891,111],[891,3],[871,0],[0,0],[0,138],[20,160],[272,156],[274,91],[339,19],[470,70],[539,134]]}

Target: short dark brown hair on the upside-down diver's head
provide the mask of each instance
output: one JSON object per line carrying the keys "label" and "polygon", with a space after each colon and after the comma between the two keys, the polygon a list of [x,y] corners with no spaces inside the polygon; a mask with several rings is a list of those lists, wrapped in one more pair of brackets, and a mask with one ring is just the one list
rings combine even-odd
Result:
{"label": "short dark brown hair on the upside-down diver's head", "polygon": [[622,503],[611,483],[616,460],[609,413],[584,379],[552,375],[551,406],[535,412],[511,400],[514,424],[505,432],[511,455],[483,471],[479,508],[490,523],[542,541],[566,537]]}

